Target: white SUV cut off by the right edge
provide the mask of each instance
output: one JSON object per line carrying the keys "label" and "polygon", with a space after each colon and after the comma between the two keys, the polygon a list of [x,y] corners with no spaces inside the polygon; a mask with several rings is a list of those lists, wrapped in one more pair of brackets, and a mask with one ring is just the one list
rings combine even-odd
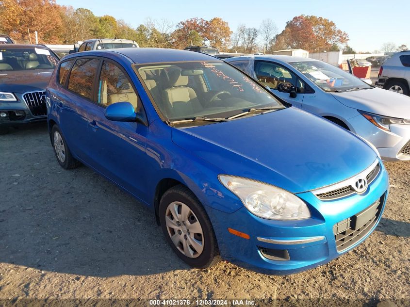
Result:
{"label": "white SUV cut off by the right edge", "polygon": [[410,51],[395,53],[378,72],[377,84],[386,90],[410,95]]}

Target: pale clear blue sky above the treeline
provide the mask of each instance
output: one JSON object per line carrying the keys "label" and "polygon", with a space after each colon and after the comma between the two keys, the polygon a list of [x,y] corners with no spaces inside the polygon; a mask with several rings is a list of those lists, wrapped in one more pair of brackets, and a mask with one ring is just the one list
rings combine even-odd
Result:
{"label": "pale clear blue sky above the treeline", "polygon": [[[272,19],[281,32],[294,16],[315,15],[332,20],[349,35],[348,45],[356,51],[380,49],[383,43],[410,48],[410,0],[57,0],[58,4],[91,10],[96,16],[111,15],[132,27],[147,18],[167,19],[173,24],[188,18],[209,20],[221,17],[235,31],[239,24],[259,28]],[[389,4],[390,3],[390,4]]]}

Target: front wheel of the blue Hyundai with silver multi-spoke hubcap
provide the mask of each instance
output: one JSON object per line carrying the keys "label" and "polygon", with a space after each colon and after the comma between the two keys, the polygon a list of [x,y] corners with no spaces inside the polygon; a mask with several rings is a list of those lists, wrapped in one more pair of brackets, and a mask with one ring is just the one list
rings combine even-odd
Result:
{"label": "front wheel of the blue Hyundai with silver multi-spoke hubcap", "polygon": [[166,191],[159,215],[166,241],[185,263],[205,269],[220,260],[211,221],[187,187],[177,185]]}

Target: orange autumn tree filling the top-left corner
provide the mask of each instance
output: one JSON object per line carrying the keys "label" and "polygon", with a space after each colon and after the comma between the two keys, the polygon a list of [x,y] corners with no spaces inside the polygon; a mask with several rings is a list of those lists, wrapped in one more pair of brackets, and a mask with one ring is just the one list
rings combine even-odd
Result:
{"label": "orange autumn tree filling the top-left corner", "polygon": [[3,32],[23,42],[34,43],[34,31],[38,32],[39,43],[59,41],[62,20],[55,0],[1,0],[0,6]]}

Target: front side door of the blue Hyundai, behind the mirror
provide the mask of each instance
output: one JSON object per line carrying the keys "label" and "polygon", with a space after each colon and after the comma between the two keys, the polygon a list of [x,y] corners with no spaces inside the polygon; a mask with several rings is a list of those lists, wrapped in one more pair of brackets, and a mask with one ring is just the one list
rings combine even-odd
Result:
{"label": "front side door of the blue Hyundai, behind the mirror", "polygon": [[88,109],[93,166],[135,196],[146,199],[148,127],[136,121],[111,121],[104,114],[107,106],[125,101],[136,112],[144,112],[128,74],[116,62],[104,59],[97,78],[96,103]]}

